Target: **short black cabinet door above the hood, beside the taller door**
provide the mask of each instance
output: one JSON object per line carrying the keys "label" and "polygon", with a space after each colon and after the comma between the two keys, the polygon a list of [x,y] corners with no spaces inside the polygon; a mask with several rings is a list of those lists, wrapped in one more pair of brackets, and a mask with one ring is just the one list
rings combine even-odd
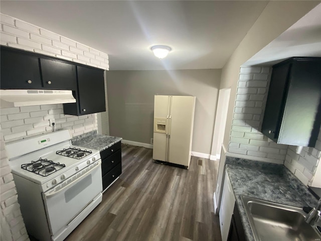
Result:
{"label": "short black cabinet door above the hood, beside the taller door", "polygon": [[76,66],[59,60],[40,59],[45,89],[76,90]]}

